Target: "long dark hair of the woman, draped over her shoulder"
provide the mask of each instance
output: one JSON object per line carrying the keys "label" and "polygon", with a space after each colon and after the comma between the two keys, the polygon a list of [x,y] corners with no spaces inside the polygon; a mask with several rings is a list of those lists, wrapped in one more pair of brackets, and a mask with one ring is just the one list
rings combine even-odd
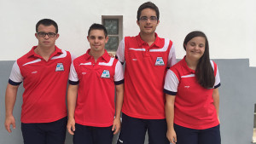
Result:
{"label": "long dark hair of the woman, draped over her shoulder", "polygon": [[208,44],[207,36],[200,31],[190,32],[184,39],[183,48],[186,50],[185,45],[187,45],[187,43],[194,37],[204,37],[206,39],[205,52],[201,56],[196,66],[195,78],[197,79],[198,83],[202,87],[209,89],[214,86],[215,77],[214,77],[214,72],[210,62],[209,44]]}

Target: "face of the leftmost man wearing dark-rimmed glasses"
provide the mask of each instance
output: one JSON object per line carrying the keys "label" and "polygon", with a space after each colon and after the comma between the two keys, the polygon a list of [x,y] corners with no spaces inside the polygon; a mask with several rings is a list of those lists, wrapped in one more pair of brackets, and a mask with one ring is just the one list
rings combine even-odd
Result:
{"label": "face of the leftmost man wearing dark-rimmed glasses", "polygon": [[[55,26],[44,26],[39,25],[38,26],[38,32],[42,33],[55,33],[56,29]],[[55,41],[58,39],[59,34],[55,34],[54,37],[49,37],[49,35],[45,36],[39,36],[38,33],[35,34],[35,36],[38,38],[38,46],[41,48],[52,48],[55,47]]]}

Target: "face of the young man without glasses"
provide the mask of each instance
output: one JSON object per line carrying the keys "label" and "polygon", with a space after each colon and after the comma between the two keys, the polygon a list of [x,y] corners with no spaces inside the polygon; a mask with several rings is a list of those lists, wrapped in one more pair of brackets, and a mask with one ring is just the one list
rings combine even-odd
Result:
{"label": "face of the young man without glasses", "polygon": [[95,52],[103,52],[105,44],[108,43],[108,37],[105,37],[103,30],[91,30],[87,39],[90,43],[90,50]]}

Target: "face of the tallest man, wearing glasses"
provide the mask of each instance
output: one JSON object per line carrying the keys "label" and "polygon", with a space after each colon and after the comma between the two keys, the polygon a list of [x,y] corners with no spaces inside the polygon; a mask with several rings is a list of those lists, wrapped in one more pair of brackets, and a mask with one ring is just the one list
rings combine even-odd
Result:
{"label": "face of the tallest man, wearing glasses", "polygon": [[[142,20],[148,18],[148,20]],[[159,20],[154,20],[156,13],[153,9],[143,9],[140,15],[140,20],[137,21],[137,25],[140,27],[142,34],[154,34],[156,26],[159,24]]]}

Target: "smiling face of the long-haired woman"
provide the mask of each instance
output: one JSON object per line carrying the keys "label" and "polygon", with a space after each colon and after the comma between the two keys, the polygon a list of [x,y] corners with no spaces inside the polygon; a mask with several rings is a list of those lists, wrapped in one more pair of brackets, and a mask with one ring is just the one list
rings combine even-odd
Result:
{"label": "smiling face of the long-haired woman", "polygon": [[194,37],[187,44],[186,57],[189,60],[200,60],[201,56],[205,53],[206,39],[205,37]]}

